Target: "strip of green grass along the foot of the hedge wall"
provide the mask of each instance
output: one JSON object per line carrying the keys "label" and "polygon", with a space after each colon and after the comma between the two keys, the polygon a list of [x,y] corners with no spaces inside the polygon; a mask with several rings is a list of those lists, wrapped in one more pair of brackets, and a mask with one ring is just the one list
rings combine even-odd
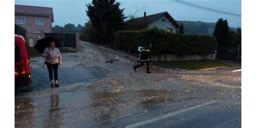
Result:
{"label": "strip of green grass along the foot of the hedge wall", "polygon": [[164,68],[174,68],[174,69],[208,69],[217,67],[232,67],[230,64],[225,64],[217,60],[185,60],[185,61],[172,61],[172,62],[154,62],[158,66],[163,66]]}

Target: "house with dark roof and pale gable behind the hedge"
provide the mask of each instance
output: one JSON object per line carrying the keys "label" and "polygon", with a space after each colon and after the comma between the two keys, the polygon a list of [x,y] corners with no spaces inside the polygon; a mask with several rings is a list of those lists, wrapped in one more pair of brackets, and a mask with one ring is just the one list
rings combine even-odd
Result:
{"label": "house with dark roof and pale gable behind the hedge", "polygon": [[132,30],[158,28],[171,33],[179,31],[179,24],[167,11],[149,16],[146,16],[146,12],[144,12],[144,17],[130,19],[125,24],[127,29]]}

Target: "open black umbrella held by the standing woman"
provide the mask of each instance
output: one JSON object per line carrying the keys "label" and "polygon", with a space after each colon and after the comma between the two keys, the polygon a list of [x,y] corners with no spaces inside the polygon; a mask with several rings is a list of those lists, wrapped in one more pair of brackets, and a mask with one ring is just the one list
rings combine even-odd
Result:
{"label": "open black umbrella held by the standing woman", "polygon": [[36,42],[36,45],[34,46],[34,48],[38,51],[38,53],[43,53],[44,49],[50,46],[51,41],[55,42],[55,47],[59,48],[59,46],[61,46],[58,39],[52,38],[52,37],[45,37],[43,39],[39,39]]}

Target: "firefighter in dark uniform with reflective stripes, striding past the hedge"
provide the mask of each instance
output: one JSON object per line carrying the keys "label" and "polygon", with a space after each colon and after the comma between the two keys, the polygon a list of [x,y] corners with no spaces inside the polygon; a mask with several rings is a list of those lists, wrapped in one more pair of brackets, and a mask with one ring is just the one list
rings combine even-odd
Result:
{"label": "firefighter in dark uniform with reflective stripes, striding past the hedge", "polygon": [[139,59],[139,64],[136,66],[133,66],[134,71],[136,71],[137,68],[140,66],[143,66],[144,63],[147,64],[147,72],[146,73],[151,73],[150,70],[150,48],[152,44],[150,43],[147,47],[142,49],[140,59]]}

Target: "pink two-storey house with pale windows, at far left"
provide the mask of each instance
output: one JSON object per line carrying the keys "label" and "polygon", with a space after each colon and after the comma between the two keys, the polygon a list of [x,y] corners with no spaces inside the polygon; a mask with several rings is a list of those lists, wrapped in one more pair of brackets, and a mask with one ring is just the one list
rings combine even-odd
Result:
{"label": "pink two-storey house with pale windows, at far left", "polygon": [[26,43],[33,47],[44,32],[52,32],[53,10],[41,6],[15,5],[15,24],[26,29]]}

